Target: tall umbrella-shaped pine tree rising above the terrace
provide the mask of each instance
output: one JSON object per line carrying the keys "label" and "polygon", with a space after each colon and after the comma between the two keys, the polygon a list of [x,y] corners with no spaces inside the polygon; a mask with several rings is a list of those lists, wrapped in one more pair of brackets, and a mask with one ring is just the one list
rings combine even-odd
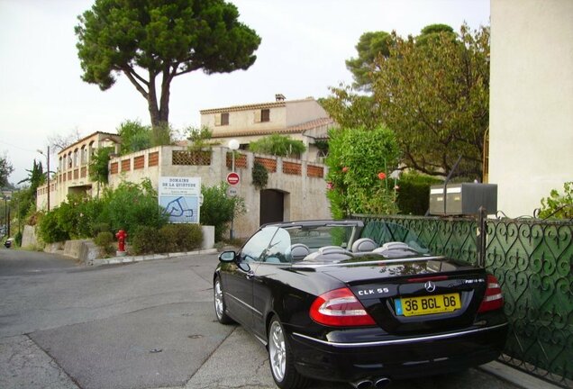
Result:
{"label": "tall umbrella-shaped pine tree rising above the terrace", "polygon": [[82,79],[106,90],[124,74],[147,101],[153,127],[165,125],[175,77],[255,62],[260,38],[238,18],[223,0],[96,0],[76,27]]}

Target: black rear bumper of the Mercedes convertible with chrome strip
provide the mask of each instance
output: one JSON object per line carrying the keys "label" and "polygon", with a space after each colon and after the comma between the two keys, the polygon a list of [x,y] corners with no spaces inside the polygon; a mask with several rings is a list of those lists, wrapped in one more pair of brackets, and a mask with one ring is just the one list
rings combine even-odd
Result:
{"label": "black rear bumper of the Mercedes convertible with chrome strip", "polygon": [[438,375],[496,359],[505,345],[507,323],[419,337],[340,343],[301,333],[290,335],[296,369],[326,381],[356,381]]}

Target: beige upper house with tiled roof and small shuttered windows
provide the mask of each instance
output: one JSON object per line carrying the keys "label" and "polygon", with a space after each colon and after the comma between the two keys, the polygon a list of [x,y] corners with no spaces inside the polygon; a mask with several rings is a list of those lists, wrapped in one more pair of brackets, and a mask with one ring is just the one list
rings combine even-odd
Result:
{"label": "beige upper house with tiled roof and small shuttered windows", "polygon": [[317,140],[326,140],[335,123],[312,97],[287,101],[276,95],[271,103],[234,105],[200,111],[201,126],[213,131],[213,139],[226,145],[239,140],[241,149],[251,141],[277,133],[301,140],[306,147],[302,159],[319,161],[323,157]]}

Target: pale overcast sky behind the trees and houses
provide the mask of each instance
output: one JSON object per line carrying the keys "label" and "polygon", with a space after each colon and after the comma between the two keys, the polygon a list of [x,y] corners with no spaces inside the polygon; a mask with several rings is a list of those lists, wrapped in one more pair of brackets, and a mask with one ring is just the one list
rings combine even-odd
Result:
{"label": "pale overcast sky behind the trees and houses", "polygon": [[[36,149],[45,150],[50,136],[150,122],[146,101],[125,77],[105,92],[80,78],[74,26],[93,2],[0,0],[0,155],[14,165],[14,184],[28,176],[33,158],[45,166]],[[231,2],[262,38],[257,61],[246,71],[175,78],[169,122],[177,129],[197,126],[203,109],[270,102],[277,93],[288,100],[328,95],[329,86],[352,81],[344,60],[356,56],[363,32],[405,36],[432,23],[456,31],[464,22],[472,29],[489,24],[489,0]]]}

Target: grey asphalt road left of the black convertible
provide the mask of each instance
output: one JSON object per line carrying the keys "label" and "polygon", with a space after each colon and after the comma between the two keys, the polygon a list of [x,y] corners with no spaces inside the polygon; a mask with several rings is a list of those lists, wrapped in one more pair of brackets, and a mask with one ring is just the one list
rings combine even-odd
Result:
{"label": "grey asphalt road left of the black convertible", "polygon": [[[0,249],[0,387],[275,388],[265,348],[214,320],[216,262],[201,255],[84,267]],[[469,369],[392,387],[517,386]]]}

